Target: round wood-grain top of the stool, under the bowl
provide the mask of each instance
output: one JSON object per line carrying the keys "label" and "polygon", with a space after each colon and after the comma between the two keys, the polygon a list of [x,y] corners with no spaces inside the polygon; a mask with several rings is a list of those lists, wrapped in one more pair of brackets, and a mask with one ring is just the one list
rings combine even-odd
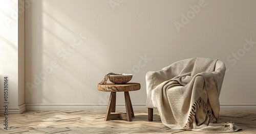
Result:
{"label": "round wood-grain top of the stool, under the bowl", "polygon": [[107,83],[104,85],[98,84],[97,89],[99,91],[107,91],[107,92],[136,91],[140,89],[140,84],[139,83],[125,83],[125,84]]}

